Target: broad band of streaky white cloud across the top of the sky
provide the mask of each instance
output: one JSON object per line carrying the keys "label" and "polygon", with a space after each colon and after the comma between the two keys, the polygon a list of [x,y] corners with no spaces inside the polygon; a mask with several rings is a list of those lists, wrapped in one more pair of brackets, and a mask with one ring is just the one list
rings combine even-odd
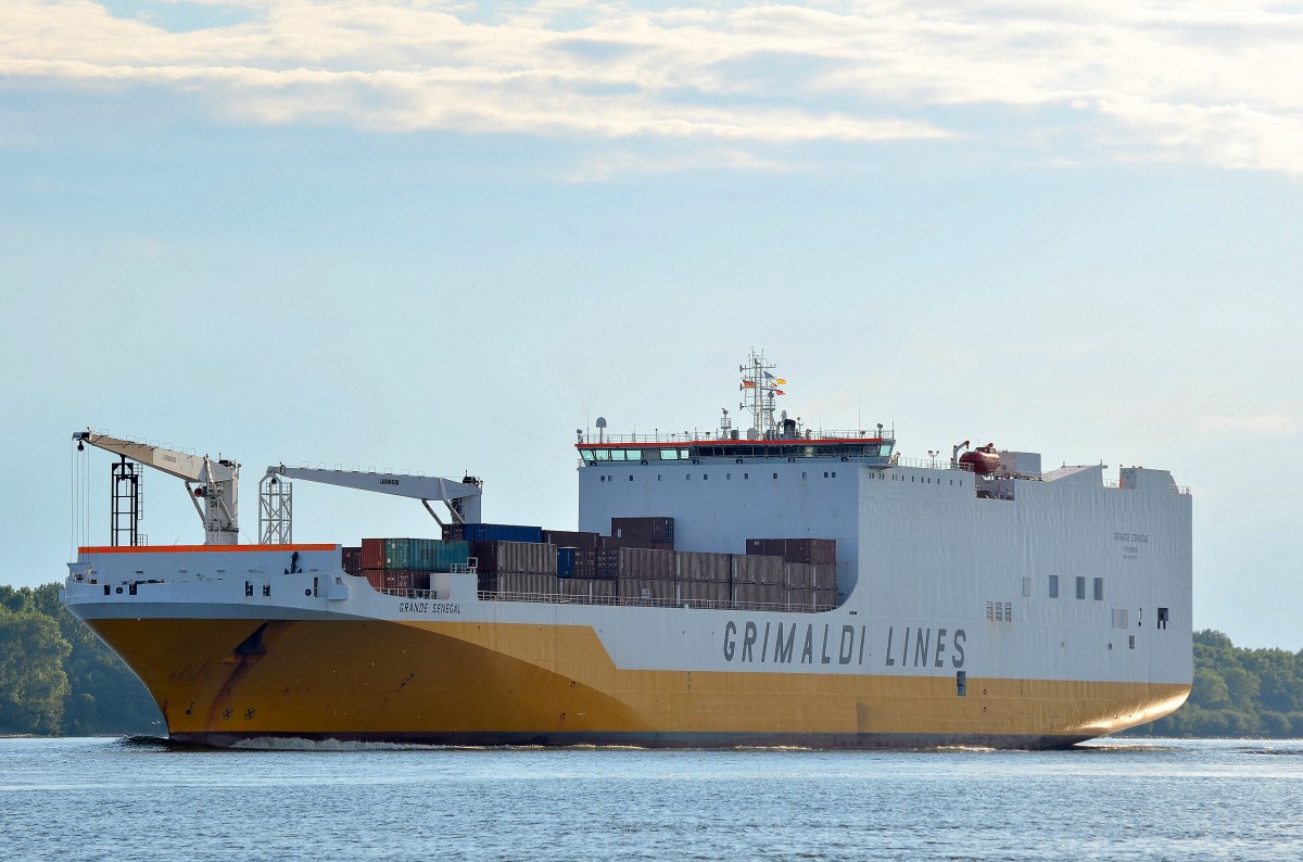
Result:
{"label": "broad band of streaky white cloud across the top of the sky", "polygon": [[1270,4],[236,0],[172,30],[139,7],[9,0],[0,77],[171,87],[248,122],[745,147],[752,169],[792,158],[765,147],[989,141],[1303,174],[1303,14]]}

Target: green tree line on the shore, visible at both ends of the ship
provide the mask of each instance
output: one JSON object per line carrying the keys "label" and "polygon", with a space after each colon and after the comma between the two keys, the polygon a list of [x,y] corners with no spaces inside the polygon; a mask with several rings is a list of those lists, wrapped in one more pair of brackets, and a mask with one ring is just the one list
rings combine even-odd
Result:
{"label": "green tree line on the shore, visible at both ends of the ship", "polygon": [[[0,586],[0,733],[164,734],[149,691],[59,590]],[[1303,738],[1303,651],[1246,650],[1221,632],[1196,632],[1190,699],[1128,733]]]}

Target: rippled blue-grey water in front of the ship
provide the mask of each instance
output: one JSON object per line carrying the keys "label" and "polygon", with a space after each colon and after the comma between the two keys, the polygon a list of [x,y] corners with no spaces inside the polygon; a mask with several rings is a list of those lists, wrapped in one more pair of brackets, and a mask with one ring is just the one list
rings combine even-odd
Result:
{"label": "rippled blue-grey water in front of the ship", "polygon": [[211,751],[0,740],[0,859],[1298,859],[1303,741]]}

